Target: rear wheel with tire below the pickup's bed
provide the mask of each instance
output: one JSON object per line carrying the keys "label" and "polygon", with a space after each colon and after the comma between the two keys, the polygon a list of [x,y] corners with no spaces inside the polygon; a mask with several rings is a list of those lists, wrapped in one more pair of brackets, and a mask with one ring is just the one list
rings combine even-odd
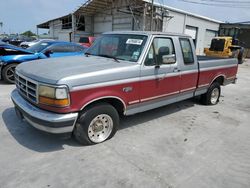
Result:
{"label": "rear wheel with tire below the pickup's bed", "polygon": [[204,105],[216,105],[219,102],[220,94],[220,84],[218,82],[214,82],[208,88],[207,93],[201,95],[201,103]]}

